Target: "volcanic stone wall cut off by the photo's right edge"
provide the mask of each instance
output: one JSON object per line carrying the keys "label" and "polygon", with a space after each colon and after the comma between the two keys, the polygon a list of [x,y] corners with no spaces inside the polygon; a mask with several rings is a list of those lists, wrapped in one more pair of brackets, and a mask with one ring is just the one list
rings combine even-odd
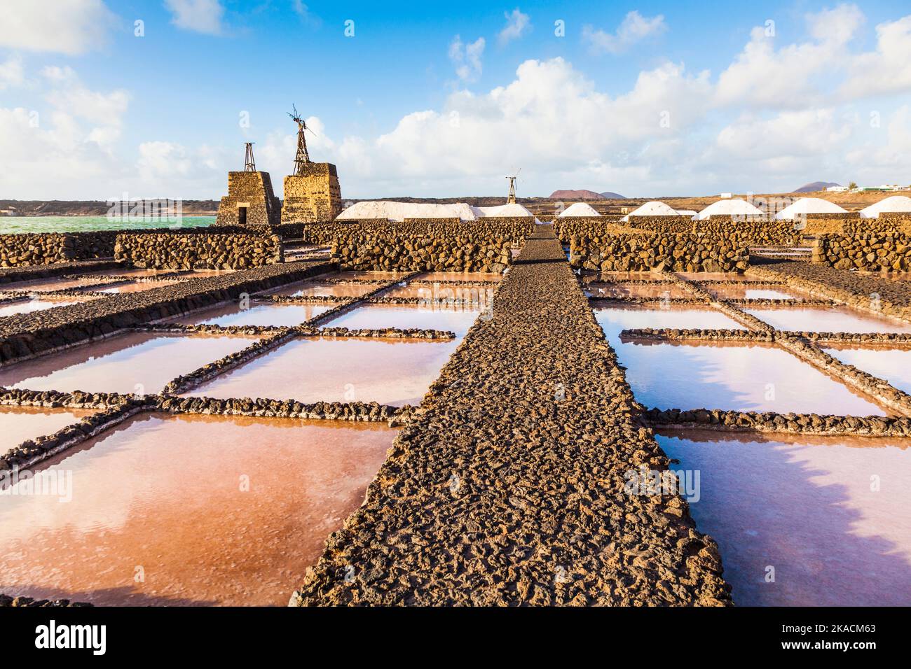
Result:
{"label": "volcanic stone wall cut off by the photo's right edge", "polygon": [[906,272],[911,269],[911,235],[823,235],[814,240],[813,262],[834,269]]}

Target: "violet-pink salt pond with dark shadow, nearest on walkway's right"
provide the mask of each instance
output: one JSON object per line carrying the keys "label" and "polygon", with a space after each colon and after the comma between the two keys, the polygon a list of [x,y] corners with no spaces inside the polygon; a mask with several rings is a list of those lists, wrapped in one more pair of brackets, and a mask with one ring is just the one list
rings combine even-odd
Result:
{"label": "violet-pink salt pond with dark shadow, nearest on walkway's right", "polygon": [[658,441],[680,460],[671,470],[691,482],[700,473],[690,511],[718,542],[734,603],[911,604],[911,441],[709,431]]}

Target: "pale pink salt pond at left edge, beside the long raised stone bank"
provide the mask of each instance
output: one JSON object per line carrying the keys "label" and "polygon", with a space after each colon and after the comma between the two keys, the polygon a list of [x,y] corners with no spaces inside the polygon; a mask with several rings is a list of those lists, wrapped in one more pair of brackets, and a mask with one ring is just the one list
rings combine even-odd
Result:
{"label": "pale pink salt pond at left edge, beside the long raised stone bank", "polygon": [[134,332],[0,368],[0,386],[28,390],[160,392],[170,380],[246,348],[250,337]]}

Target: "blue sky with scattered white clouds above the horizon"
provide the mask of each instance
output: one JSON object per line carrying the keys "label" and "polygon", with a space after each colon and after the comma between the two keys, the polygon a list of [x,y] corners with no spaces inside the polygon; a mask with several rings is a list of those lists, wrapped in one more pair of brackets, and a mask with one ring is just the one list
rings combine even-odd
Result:
{"label": "blue sky with scattered white clouds above the horizon", "polygon": [[520,195],[911,182],[906,3],[3,11],[3,198],[217,198],[248,140],[281,191],[292,103],[352,198],[499,194],[515,167]]}

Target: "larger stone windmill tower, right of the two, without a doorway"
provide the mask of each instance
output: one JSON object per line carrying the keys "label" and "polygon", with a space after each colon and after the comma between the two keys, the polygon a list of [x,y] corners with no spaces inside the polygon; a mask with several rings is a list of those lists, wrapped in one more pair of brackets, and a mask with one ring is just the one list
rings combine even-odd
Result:
{"label": "larger stone windmill tower, right of the two, without a doorway", "polygon": [[332,163],[302,163],[285,177],[282,223],[333,220],[342,213],[342,187]]}

